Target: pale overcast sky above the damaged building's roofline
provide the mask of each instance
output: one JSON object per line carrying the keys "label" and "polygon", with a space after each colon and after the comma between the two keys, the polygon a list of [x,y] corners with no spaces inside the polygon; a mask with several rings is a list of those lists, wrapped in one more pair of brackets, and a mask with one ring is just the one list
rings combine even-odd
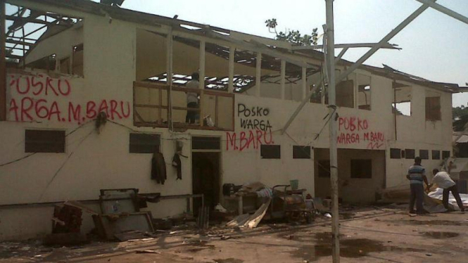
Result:
{"label": "pale overcast sky above the damaged building's roofline", "polygon": [[[98,0],[94,0],[98,1]],[[439,0],[438,4],[468,16],[468,0]],[[377,42],[419,6],[415,0],[335,0],[336,43]],[[310,34],[325,23],[324,0],[125,0],[122,8],[224,27],[263,37],[274,37],[265,20],[277,18],[279,30]],[[428,9],[391,39],[403,50],[380,50],[366,61],[437,82],[468,82],[468,25]],[[348,51],[355,61],[367,49]],[[336,52],[339,52],[337,50]],[[453,96],[453,105],[467,105],[468,94]]]}

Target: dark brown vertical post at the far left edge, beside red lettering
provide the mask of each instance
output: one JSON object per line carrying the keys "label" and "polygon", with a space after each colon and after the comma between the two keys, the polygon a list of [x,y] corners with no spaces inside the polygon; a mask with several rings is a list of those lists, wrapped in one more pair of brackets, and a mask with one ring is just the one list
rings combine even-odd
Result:
{"label": "dark brown vertical post at the far left edge, beside red lettering", "polygon": [[6,120],[6,4],[0,0],[0,121]]}

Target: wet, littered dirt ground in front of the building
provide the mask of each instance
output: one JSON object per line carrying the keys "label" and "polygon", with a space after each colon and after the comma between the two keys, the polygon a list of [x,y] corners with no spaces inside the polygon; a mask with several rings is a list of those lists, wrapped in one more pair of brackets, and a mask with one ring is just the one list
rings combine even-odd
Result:
{"label": "wet, littered dirt ground in front of the building", "polygon": [[[331,226],[260,224],[167,231],[156,238],[48,248],[39,241],[0,243],[0,262],[331,262]],[[402,208],[347,211],[341,220],[341,262],[467,262],[468,214],[410,217]]]}

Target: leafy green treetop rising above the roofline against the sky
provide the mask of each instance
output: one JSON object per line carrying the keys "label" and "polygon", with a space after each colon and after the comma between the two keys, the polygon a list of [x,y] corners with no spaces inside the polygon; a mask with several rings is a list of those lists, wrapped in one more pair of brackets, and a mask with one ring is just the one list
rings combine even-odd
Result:
{"label": "leafy green treetop rising above the roofline against the sky", "polygon": [[[288,41],[298,46],[311,46],[316,45],[318,40],[317,27],[312,30],[311,34],[301,34],[299,30],[286,30],[286,32],[277,32],[276,18],[268,19],[265,21],[268,30],[276,34],[276,39],[281,41]],[[272,31],[273,30],[273,31]]]}

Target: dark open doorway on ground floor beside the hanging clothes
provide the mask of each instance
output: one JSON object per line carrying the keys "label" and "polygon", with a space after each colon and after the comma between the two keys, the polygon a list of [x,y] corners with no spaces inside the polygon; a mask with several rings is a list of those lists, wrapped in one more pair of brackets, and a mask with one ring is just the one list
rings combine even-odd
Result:
{"label": "dark open doorway on ground floor beside the hanging clothes", "polygon": [[[220,202],[220,153],[192,152],[192,191],[203,193],[210,210]],[[194,214],[200,207],[201,199],[194,198]]]}

